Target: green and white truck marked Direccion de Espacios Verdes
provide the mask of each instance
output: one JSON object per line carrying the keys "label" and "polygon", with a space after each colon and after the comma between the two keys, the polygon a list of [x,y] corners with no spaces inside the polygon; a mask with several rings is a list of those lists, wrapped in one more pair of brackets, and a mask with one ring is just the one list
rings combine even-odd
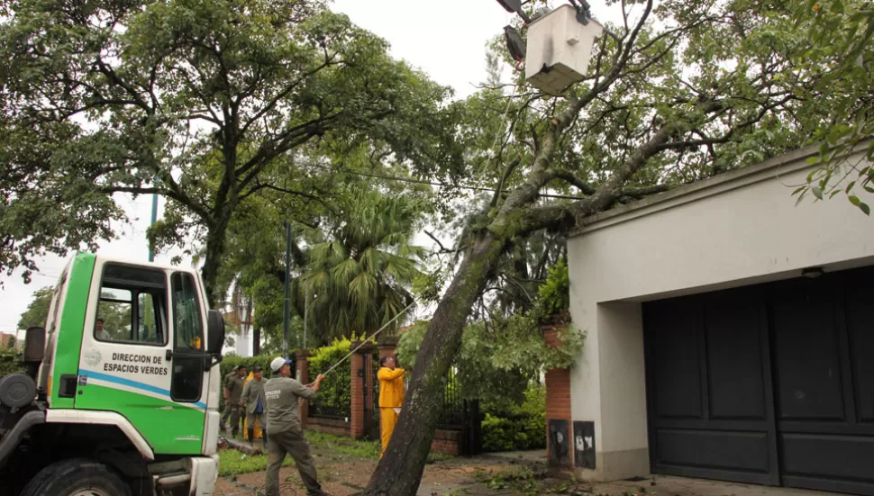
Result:
{"label": "green and white truck marked Direccion de Espacios Verdes", "polygon": [[195,270],[71,257],[0,378],[0,496],[214,494],[223,344]]}

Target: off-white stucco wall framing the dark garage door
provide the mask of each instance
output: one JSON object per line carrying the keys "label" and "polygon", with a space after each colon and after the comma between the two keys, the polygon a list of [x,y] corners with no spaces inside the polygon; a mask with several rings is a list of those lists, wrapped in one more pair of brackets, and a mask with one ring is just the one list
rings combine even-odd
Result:
{"label": "off-white stucco wall framing the dark garage door", "polygon": [[[640,302],[874,263],[874,219],[843,194],[796,205],[803,149],[605,212],[568,241],[571,316],[587,341],[571,372],[574,420],[596,422],[596,471],[648,471]],[[858,158],[853,158],[853,160]],[[862,200],[874,206],[874,195]],[[860,196],[862,196],[860,194]]]}

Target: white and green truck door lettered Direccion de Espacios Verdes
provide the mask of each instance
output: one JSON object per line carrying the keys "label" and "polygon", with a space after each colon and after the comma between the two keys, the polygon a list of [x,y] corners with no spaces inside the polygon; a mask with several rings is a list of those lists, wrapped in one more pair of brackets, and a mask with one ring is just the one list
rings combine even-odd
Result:
{"label": "white and green truck door lettered Direccion de Espacios Verdes", "polygon": [[200,453],[205,404],[191,384],[202,383],[203,366],[195,370],[185,352],[177,353],[177,342],[183,332],[202,335],[204,325],[192,323],[190,311],[177,312],[186,305],[187,294],[178,289],[184,274],[99,257],[94,274],[76,409],[123,415],[155,453]]}

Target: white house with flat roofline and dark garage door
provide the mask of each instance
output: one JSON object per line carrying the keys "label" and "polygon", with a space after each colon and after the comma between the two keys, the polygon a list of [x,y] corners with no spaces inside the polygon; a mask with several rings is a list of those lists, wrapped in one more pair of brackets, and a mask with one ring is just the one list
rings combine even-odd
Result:
{"label": "white house with flat roofline and dark garage door", "polygon": [[796,205],[815,153],[603,212],[569,238],[587,340],[551,439],[594,431],[563,447],[578,477],[874,495],[874,219],[843,194]]}

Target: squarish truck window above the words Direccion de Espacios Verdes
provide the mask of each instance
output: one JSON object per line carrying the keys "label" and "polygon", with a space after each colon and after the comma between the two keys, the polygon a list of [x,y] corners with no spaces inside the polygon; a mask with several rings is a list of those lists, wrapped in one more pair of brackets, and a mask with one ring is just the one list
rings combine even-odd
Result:
{"label": "squarish truck window above the words Direccion de Espacios Verdes", "polygon": [[166,276],[160,270],[107,264],[97,302],[98,341],[167,344]]}

